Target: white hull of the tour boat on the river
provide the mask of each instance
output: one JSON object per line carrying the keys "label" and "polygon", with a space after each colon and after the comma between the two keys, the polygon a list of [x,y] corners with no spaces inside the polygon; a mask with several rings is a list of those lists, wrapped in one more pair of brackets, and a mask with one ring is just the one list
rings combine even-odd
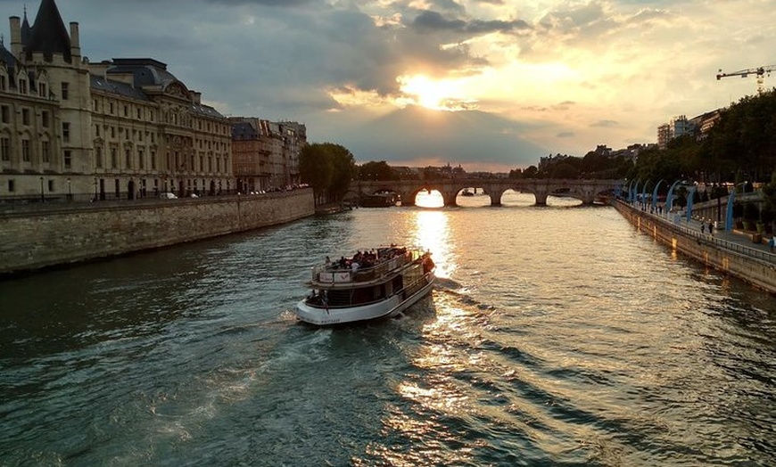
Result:
{"label": "white hull of the tour boat on the river", "polygon": [[407,299],[402,300],[400,294],[394,294],[376,303],[358,307],[312,307],[306,303],[306,300],[301,300],[296,305],[296,315],[301,321],[318,326],[357,323],[392,317],[415,305],[417,300],[424,298],[433,288],[433,280],[433,273],[428,274],[428,283]]}

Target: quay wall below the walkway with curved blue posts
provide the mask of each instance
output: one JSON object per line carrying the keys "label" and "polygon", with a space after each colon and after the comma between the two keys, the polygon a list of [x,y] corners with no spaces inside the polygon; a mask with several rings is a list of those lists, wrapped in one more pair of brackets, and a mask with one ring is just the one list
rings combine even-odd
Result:
{"label": "quay wall below the walkway with curved blue posts", "polygon": [[764,291],[776,293],[776,263],[773,262],[774,256],[767,251],[748,247],[742,242],[704,235],[697,229],[681,225],[681,222],[677,224],[665,217],[648,214],[622,201],[615,201],[615,208],[640,232],[651,235],[673,250]]}

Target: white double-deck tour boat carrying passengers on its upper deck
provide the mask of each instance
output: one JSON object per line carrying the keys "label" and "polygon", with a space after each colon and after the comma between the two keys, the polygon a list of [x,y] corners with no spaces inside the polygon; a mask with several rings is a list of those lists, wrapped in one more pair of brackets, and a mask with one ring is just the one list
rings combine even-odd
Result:
{"label": "white double-deck tour boat carrying passengers on its upper deck", "polygon": [[383,246],[314,266],[312,291],[296,305],[305,323],[327,326],[398,315],[433,287],[431,253]]}

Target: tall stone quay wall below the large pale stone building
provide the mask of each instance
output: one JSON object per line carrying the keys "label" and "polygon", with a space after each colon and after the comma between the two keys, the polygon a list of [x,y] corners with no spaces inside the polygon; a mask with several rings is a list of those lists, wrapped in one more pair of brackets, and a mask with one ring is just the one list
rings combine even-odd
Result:
{"label": "tall stone quay wall below the large pale stone building", "polygon": [[153,250],[313,214],[312,189],[177,200],[0,205],[0,275]]}

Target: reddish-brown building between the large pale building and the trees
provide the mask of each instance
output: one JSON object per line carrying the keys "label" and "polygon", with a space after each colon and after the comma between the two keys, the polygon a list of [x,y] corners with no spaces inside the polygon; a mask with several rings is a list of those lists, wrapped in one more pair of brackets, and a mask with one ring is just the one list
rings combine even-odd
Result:
{"label": "reddish-brown building between the large pale building and the trees", "polygon": [[307,143],[303,124],[246,117],[230,121],[238,192],[271,191],[299,183],[299,152]]}

